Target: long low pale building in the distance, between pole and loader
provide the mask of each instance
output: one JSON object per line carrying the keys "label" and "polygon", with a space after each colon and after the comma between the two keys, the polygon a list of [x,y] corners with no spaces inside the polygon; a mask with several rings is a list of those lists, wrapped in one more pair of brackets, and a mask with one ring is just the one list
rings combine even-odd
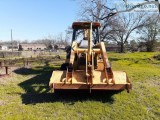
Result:
{"label": "long low pale building in the distance, between pole and loader", "polygon": [[45,50],[46,46],[44,44],[34,44],[34,43],[28,43],[28,44],[20,44],[19,48],[22,48],[22,50],[25,51],[32,51],[32,50]]}

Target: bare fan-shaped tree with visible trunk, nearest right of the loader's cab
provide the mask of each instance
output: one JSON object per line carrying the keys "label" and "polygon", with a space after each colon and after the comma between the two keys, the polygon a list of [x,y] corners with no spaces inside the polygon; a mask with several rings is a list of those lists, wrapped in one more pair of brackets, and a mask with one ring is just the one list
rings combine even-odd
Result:
{"label": "bare fan-shaped tree with visible trunk, nearest right of the loader's cab", "polygon": [[[148,24],[145,22],[146,19],[144,13],[119,15],[117,17],[118,21],[112,26],[112,33],[108,35],[108,39],[120,45],[119,52],[125,52],[125,44],[129,43],[129,37],[136,29]],[[134,33],[134,35],[136,34]]]}

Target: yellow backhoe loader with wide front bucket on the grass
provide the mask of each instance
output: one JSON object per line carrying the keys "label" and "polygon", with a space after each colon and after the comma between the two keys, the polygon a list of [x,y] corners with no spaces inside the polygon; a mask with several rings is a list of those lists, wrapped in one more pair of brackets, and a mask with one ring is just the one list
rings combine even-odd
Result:
{"label": "yellow backhoe loader with wide front bucket on the grass", "polygon": [[[112,71],[98,22],[74,22],[66,63],[53,71],[49,86],[56,90],[124,90],[132,87],[127,74]],[[77,41],[78,39],[81,41]]]}

